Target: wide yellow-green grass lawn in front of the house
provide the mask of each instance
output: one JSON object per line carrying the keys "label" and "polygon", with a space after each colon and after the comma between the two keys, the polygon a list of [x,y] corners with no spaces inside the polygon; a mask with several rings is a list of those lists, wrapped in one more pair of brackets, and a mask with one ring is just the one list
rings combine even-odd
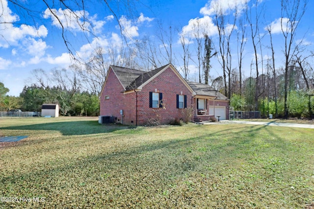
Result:
{"label": "wide yellow-green grass lawn in front of the house", "polygon": [[[0,208],[305,208],[314,131],[245,124],[99,125],[0,118]],[[22,199],[23,200],[23,199]]]}

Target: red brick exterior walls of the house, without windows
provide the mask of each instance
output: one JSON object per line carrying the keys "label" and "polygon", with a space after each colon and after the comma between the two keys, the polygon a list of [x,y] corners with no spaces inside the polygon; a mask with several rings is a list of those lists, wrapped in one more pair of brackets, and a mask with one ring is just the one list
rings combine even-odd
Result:
{"label": "red brick exterior walls of the house, without windows", "polygon": [[[124,94],[120,81],[112,70],[109,71],[108,78],[102,95],[100,97],[100,115],[114,116],[116,122],[122,122],[120,110],[124,111],[123,123],[127,125],[136,125],[136,93]],[[149,93],[162,93],[163,108],[149,107]],[[177,74],[170,68],[164,70],[151,82],[146,84],[142,91],[137,92],[137,125],[149,125],[157,122],[168,124],[175,118],[184,118],[183,109],[177,109],[177,94],[187,96],[187,107],[192,106],[192,93],[183,84]],[[109,96],[109,99],[105,99]],[[215,105],[226,106],[227,101],[215,101]],[[209,100],[212,105],[212,100]],[[195,103],[194,103],[195,106]],[[193,107],[195,109],[195,107]],[[228,109],[226,109],[228,113]],[[228,115],[226,116],[228,118]]]}

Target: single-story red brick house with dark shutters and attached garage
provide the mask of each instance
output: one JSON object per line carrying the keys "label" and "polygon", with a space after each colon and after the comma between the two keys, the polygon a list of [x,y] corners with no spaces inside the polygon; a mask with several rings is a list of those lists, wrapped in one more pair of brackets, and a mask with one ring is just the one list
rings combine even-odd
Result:
{"label": "single-story red brick house with dark shutters and attached garage", "polygon": [[149,72],[110,66],[100,94],[100,116],[128,125],[167,124],[192,109],[190,120],[228,119],[229,99],[185,80],[172,64]]}

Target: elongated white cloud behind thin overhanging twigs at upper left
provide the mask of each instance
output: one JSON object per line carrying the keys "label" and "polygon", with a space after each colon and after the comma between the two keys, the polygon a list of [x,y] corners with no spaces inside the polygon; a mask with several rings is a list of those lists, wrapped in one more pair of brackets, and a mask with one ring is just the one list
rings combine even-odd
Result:
{"label": "elongated white cloud behind thin overhanging twigs at upper left", "polygon": [[[57,18],[56,18],[56,17]],[[62,28],[72,31],[88,30],[94,33],[101,32],[101,28],[104,26],[105,21],[98,21],[97,15],[90,16],[87,11],[71,11],[70,9],[46,9],[43,17],[45,19],[51,19],[52,25],[58,28]],[[61,23],[61,24],[60,24]]]}

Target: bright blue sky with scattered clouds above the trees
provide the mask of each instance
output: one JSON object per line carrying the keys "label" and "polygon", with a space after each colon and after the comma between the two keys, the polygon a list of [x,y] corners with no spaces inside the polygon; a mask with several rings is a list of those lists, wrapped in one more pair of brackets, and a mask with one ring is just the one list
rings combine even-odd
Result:
{"label": "bright blue sky with scattered clouds above the trees", "polygon": [[[67,69],[73,64],[73,60],[71,60],[69,51],[62,40],[60,27],[44,4],[36,1],[32,5],[34,10],[38,11],[34,16],[35,18],[32,19],[21,13],[7,0],[0,1],[3,5],[0,23],[6,22],[6,24],[0,24],[0,82],[3,82],[4,86],[9,88],[10,92],[8,95],[18,96],[25,85],[31,84],[32,70],[43,69],[49,72],[53,68]],[[189,41],[192,48],[193,42],[195,43],[191,35],[193,23],[200,21],[206,24],[206,32],[213,39],[213,42],[216,43],[216,26],[212,22],[212,7],[216,1],[220,1],[225,6],[223,8],[226,14],[232,14],[235,2],[237,2],[237,8],[240,10],[245,5],[245,0],[142,0],[140,3],[130,5],[129,7],[113,4],[111,6],[116,11],[116,17],[122,25],[122,32],[126,35],[128,43],[140,40],[143,36],[149,36],[156,40],[156,45],[160,45],[158,38],[160,29],[158,25],[161,24],[165,31],[171,26],[174,39],[172,47],[176,57],[174,64],[177,66],[177,70],[180,70],[180,66],[183,65],[180,34],[184,33],[187,37],[190,36]],[[26,2],[29,5],[35,1],[28,0],[22,2]],[[95,2],[93,4],[89,2],[89,4],[85,5],[85,16],[89,18],[91,24],[85,23],[84,27],[92,30],[97,38],[89,33],[83,33],[80,29],[82,23],[78,25],[75,21],[68,22],[68,28],[66,28],[71,49],[73,49],[76,56],[85,60],[88,59],[96,46],[119,48],[124,42],[121,38],[117,20],[108,9],[105,9],[104,5],[97,3],[98,1]],[[260,32],[261,34],[265,33],[264,27],[266,25],[272,26],[276,47],[276,66],[280,68],[284,66],[282,56],[283,36],[280,34],[278,24],[281,17],[280,1],[262,0],[262,3],[265,15],[261,20],[263,23],[260,27]],[[64,14],[64,11],[61,11],[58,6],[55,6],[54,9],[57,14],[60,14],[60,19],[63,20],[62,17],[64,16],[62,14]],[[312,51],[314,50],[313,9],[314,1],[309,0],[307,11],[299,24],[295,39],[295,42],[303,39],[303,45],[306,46],[307,50]],[[27,25],[19,23],[26,23]],[[233,68],[237,67],[235,62],[237,59],[237,43],[234,36],[231,41],[231,44],[234,46],[232,49],[234,57]],[[270,56],[267,46],[269,46],[269,38],[265,35],[262,39],[263,54],[261,56],[263,57]],[[218,46],[215,45],[215,47]],[[248,76],[250,74],[249,66],[253,58],[253,50],[249,39],[244,54],[244,75]],[[217,58],[212,58],[211,65],[210,73],[212,78],[222,75]],[[189,67],[191,69],[189,78],[193,80],[197,77],[196,66],[190,62]]]}

